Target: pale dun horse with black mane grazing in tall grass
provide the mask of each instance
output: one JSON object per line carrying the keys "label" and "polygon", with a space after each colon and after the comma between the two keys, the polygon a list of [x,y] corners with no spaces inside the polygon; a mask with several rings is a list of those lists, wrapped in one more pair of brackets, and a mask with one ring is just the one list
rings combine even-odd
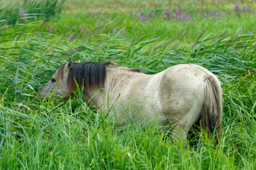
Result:
{"label": "pale dun horse with black mane grazing in tall grass", "polygon": [[221,139],[221,84],[202,66],[182,64],[146,75],[113,62],[73,63],[70,58],[39,93],[41,98],[53,91],[68,95],[78,87],[83,101],[121,125],[157,121],[170,127],[176,141],[185,143],[185,150],[189,129],[198,121],[214,136],[214,145]]}

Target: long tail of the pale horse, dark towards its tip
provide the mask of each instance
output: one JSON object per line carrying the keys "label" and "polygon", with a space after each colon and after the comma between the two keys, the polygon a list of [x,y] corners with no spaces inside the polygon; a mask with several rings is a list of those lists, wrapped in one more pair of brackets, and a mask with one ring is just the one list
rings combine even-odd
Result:
{"label": "long tail of the pale horse, dark towards its tip", "polygon": [[217,145],[221,139],[222,90],[218,79],[205,75],[205,104],[201,113],[201,127],[208,134],[214,135]]}

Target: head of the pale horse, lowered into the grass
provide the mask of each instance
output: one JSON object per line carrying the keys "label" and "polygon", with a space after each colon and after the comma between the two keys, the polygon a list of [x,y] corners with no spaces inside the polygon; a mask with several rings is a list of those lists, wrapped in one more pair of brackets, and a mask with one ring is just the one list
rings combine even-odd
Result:
{"label": "head of the pale horse, lowered into the grass", "polygon": [[68,86],[68,76],[71,66],[73,65],[73,61],[70,58],[67,64],[64,64],[56,70],[55,74],[51,79],[47,82],[46,86],[41,89],[40,98],[44,98],[48,93],[52,93],[55,91],[59,95],[66,95],[71,90]]}

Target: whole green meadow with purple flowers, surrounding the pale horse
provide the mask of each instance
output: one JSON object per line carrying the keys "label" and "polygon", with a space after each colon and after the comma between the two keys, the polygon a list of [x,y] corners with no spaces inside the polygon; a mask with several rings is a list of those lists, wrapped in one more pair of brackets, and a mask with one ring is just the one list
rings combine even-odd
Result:
{"label": "whole green meadow with purple flowers, surrounding the pale horse", "polygon": [[[256,3],[1,2],[0,169],[255,169]],[[156,122],[120,126],[80,97],[35,100],[62,63],[114,61],[153,74],[194,63],[223,88],[219,145],[184,153]]]}

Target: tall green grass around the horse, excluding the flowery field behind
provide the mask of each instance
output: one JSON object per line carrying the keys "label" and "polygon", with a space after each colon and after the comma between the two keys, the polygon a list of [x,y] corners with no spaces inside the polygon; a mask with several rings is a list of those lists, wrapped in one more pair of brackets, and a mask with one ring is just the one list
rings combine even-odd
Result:
{"label": "tall green grass around the horse, excluding the flowery field behind", "polygon": [[[234,35],[203,32],[186,44],[180,43],[185,31],[170,41],[130,40],[122,30],[102,34],[98,28],[67,40],[65,31],[42,31],[46,22],[20,24],[24,31],[8,27],[10,34],[1,36],[1,169],[255,169],[254,34],[237,27]],[[68,58],[113,60],[148,74],[181,63],[204,66],[222,83],[221,143],[214,150],[198,134],[200,143],[184,153],[156,122],[117,126],[79,98],[35,101],[37,91]]]}

